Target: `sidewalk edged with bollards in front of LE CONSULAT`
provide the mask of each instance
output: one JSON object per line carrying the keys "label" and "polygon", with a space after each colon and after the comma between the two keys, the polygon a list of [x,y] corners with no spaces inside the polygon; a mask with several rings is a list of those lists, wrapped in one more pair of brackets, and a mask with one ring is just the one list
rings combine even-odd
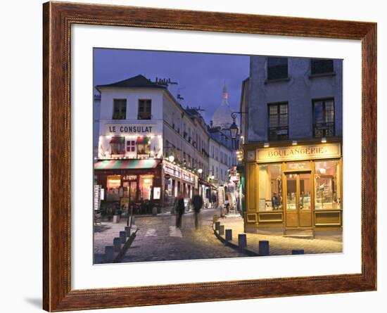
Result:
{"label": "sidewalk edged with bollards in front of LE CONSULAT", "polygon": [[[127,222],[113,223],[102,222],[94,225],[94,264],[102,263],[104,261],[105,246],[113,245],[113,239],[120,237],[120,231],[125,231]],[[132,231],[136,231],[137,226],[132,225]]]}

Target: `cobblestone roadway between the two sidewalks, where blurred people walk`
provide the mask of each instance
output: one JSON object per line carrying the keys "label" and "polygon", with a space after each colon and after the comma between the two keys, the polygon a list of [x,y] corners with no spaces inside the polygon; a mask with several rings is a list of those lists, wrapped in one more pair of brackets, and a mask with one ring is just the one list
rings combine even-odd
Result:
{"label": "cobblestone roadway between the two sidewalks, where blurred people walk", "polygon": [[195,229],[194,213],[186,213],[182,229],[175,226],[175,216],[139,217],[137,237],[121,262],[196,260],[223,257],[246,257],[224,246],[214,236],[212,217],[215,209],[201,212],[201,229]]}

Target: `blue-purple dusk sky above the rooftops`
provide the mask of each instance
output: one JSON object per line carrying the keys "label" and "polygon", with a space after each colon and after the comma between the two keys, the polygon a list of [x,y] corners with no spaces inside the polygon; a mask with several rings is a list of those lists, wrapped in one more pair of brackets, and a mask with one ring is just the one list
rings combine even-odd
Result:
{"label": "blue-purple dusk sky above the rooftops", "polygon": [[[212,53],[185,53],[125,49],[94,49],[94,86],[136,75],[154,81],[170,78],[179,85],[184,106],[201,106],[209,124],[222,102],[224,82],[229,105],[239,110],[241,84],[249,74],[249,57]],[[96,92],[96,91],[95,91]]]}

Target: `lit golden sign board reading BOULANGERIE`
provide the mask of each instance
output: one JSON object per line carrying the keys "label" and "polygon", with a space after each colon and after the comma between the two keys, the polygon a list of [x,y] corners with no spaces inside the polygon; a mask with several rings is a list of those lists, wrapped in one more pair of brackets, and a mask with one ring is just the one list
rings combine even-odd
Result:
{"label": "lit golden sign board reading BOULANGERIE", "polygon": [[257,149],[258,162],[340,158],[339,143]]}

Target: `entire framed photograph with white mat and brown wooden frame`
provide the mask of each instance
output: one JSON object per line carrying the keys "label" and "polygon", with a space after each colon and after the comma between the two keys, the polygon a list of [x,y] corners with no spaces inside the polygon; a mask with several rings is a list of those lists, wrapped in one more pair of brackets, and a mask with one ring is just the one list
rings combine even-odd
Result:
{"label": "entire framed photograph with white mat and brown wooden frame", "polygon": [[376,290],[376,23],[43,12],[45,310]]}

